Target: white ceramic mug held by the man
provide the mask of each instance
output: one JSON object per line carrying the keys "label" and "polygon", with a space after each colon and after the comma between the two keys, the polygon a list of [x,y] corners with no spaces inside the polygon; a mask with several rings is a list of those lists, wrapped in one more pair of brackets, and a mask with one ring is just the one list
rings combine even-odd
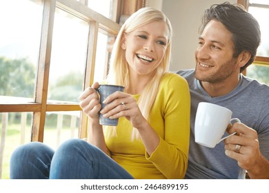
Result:
{"label": "white ceramic mug held by the man", "polygon": [[199,103],[195,118],[195,142],[208,148],[215,148],[217,143],[236,133],[221,139],[229,123],[241,122],[231,117],[232,111],[228,108],[212,103]]}

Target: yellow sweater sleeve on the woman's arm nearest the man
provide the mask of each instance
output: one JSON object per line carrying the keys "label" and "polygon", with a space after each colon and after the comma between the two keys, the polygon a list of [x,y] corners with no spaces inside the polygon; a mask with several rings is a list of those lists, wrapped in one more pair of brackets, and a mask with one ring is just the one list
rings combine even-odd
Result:
{"label": "yellow sweater sleeve on the woman's arm nearest the man", "polygon": [[167,179],[183,179],[188,165],[190,140],[190,91],[179,76],[169,76],[161,83],[157,105],[163,111],[163,136],[155,152],[146,159],[152,161]]}

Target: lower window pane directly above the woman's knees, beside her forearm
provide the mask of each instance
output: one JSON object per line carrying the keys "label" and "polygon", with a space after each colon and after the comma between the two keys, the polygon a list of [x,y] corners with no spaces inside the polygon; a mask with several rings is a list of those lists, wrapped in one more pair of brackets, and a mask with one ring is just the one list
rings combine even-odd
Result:
{"label": "lower window pane directly above the woman's knees, beside her forearm", "polygon": [[47,112],[43,143],[56,150],[67,139],[79,136],[79,111]]}

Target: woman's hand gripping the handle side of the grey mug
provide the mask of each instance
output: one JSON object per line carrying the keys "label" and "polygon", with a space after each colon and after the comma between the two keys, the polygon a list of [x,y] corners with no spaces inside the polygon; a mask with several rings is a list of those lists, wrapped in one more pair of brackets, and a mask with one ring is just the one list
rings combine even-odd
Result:
{"label": "woman's hand gripping the handle side of the grey mug", "polygon": [[90,119],[99,121],[101,104],[99,102],[99,94],[95,90],[97,88],[99,88],[99,83],[94,83],[92,87],[86,88],[79,96],[79,106]]}

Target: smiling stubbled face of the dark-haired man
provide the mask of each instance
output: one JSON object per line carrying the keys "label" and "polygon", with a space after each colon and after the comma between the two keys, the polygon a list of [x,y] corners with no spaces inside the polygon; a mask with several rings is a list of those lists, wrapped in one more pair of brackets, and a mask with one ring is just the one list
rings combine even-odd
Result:
{"label": "smiling stubbled face of the dark-haired man", "polygon": [[239,67],[233,53],[232,33],[221,22],[211,20],[199,37],[195,77],[209,83],[238,77]]}

